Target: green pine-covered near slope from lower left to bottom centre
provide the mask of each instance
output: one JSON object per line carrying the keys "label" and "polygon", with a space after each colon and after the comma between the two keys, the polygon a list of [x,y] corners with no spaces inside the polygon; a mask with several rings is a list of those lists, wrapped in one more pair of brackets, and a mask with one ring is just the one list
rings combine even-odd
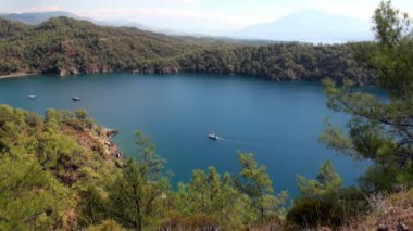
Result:
{"label": "green pine-covered near slope from lower left to bottom centre", "polygon": [[108,155],[105,136],[85,111],[41,118],[0,105],[0,229],[237,230],[283,210],[286,193],[273,195],[252,154],[240,154],[239,180],[210,167],[174,192],[150,137],[136,132],[138,156],[123,162]]}

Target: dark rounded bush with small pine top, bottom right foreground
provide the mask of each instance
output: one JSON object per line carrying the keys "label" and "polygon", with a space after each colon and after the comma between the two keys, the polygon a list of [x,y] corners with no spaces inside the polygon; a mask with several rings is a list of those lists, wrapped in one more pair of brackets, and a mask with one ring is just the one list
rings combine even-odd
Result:
{"label": "dark rounded bush with small pine top, bottom right foreground", "polygon": [[300,195],[288,211],[287,220],[299,227],[338,227],[365,211],[364,195],[355,188],[342,188],[331,162],[320,168],[316,179],[297,177]]}

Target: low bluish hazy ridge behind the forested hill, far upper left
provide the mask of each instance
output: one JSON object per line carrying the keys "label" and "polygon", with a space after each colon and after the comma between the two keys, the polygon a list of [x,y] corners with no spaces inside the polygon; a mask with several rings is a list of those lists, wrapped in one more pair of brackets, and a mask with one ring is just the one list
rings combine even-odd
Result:
{"label": "low bluish hazy ridge behind the forested hill, far upper left", "polygon": [[53,11],[53,12],[27,12],[27,13],[0,13],[0,17],[22,22],[29,25],[40,24],[45,21],[48,21],[51,17],[66,16],[72,18],[80,20],[82,17],[64,11]]}

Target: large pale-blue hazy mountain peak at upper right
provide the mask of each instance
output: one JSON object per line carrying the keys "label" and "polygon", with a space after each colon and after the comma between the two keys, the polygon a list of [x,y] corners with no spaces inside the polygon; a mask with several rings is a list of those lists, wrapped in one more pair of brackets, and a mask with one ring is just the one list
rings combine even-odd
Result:
{"label": "large pale-blue hazy mountain peak at upper right", "polygon": [[367,21],[316,10],[292,13],[277,21],[252,25],[231,35],[236,38],[336,43],[373,39]]}

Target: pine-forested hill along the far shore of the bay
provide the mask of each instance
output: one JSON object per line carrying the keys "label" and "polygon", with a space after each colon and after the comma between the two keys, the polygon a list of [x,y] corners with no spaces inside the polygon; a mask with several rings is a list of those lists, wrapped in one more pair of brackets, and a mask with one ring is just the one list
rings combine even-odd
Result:
{"label": "pine-forested hill along the far shore of the bay", "polygon": [[54,17],[40,25],[0,20],[0,75],[58,75],[129,70],[239,74],[274,80],[372,77],[351,59],[349,44],[248,44],[154,34],[130,27],[97,26]]}

